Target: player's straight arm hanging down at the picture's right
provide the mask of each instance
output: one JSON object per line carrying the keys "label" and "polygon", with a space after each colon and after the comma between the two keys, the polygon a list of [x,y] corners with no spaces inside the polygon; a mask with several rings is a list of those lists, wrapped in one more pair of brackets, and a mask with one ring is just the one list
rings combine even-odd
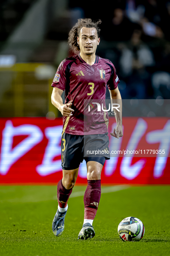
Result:
{"label": "player's straight arm hanging down at the picture's right", "polygon": [[115,129],[113,130],[112,133],[110,133],[113,137],[118,138],[123,136],[123,130],[122,130],[122,98],[120,91],[118,87],[114,90],[109,90],[110,91],[110,98],[111,98],[111,103],[117,103],[120,105],[117,109],[114,109],[114,112],[116,113],[115,118],[116,118],[116,131]]}

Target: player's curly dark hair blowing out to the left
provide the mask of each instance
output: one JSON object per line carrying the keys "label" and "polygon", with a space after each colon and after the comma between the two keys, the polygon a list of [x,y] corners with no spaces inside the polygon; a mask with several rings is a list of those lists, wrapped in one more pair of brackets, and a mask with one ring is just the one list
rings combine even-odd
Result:
{"label": "player's curly dark hair blowing out to the left", "polygon": [[70,30],[69,35],[68,35],[68,44],[74,53],[77,53],[78,51],[80,51],[80,47],[77,44],[77,37],[80,34],[81,28],[82,27],[88,27],[88,28],[95,27],[95,29],[97,30],[98,37],[99,37],[100,28],[98,27],[98,25],[101,22],[102,22],[101,20],[98,20],[97,22],[92,21],[90,18],[78,19],[78,22],[74,25],[74,27],[72,27],[72,29]]}

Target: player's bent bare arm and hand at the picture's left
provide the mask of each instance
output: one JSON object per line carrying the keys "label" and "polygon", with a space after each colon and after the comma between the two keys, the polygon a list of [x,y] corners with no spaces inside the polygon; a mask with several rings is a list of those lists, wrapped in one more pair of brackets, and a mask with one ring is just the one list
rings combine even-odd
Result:
{"label": "player's bent bare arm and hand at the picture's left", "polygon": [[62,100],[63,90],[53,87],[53,92],[51,95],[52,104],[62,113],[63,116],[72,116],[73,109],[70,108],[72,103],[63,104]]}

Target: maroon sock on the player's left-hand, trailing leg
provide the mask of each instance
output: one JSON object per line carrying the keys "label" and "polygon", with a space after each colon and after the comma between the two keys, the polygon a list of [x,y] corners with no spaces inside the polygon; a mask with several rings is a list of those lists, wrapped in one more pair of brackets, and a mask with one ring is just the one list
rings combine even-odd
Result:
{"label": "maroon sock on the player's left-hand, trailing leg", "polygon": [[62,180],[60,180],[57,184],[57,200],[58,205],[61,208],[65,208],[67,206],[68,198],[71,195],[72,188],[66,189],[63,184]]}

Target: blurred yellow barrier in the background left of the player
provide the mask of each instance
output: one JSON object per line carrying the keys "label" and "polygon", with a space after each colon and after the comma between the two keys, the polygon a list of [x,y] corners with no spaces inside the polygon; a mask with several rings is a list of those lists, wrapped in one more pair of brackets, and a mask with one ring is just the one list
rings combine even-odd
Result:
{"label": "blurred yellow barrier in the background left of the player", "polygon": [[[59,111],[51,103],[56,70],[42,63],[16,63],[0,68],[0,116],[47,116]],[[51,114],[49,114],[51,115]]]}

